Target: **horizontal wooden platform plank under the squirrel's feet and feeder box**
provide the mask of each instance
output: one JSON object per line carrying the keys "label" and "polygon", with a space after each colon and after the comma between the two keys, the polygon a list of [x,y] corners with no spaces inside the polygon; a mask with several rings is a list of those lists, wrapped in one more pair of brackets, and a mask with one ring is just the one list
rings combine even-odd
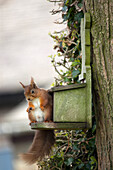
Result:
{"label": "horizontal wooden platform plank under the squirrel's feet and feeder box", "polygon": [[84,129],[87,128],[86,122],[77,122],[77,123],[45,123],[38,122],[32,123],[31,129],[34,130],[76,130],[76,129]]}

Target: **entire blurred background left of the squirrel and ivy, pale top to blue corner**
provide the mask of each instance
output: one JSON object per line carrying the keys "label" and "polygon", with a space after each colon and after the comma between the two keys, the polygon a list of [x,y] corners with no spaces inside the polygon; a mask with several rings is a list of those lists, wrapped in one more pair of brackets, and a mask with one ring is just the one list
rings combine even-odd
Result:
{"label": "entire blurred background left of the squirrel and ivy, pale top to blue corner", "polygon": [[0,0],[0,170],[37,169],[18,157],[34,136],[19,82],[27,85],[32,76],[45,89],[54,82],[48,33],[61,26],[54,24],[59,16],[50,14],[53,8],[47,0]]}

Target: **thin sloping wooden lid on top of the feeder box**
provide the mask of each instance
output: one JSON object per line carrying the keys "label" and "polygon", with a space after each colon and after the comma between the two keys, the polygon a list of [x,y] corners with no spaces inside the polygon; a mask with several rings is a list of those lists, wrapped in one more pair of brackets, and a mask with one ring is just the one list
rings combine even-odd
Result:
{"label": "thin sloping wooden lid on top of the feeder box", "polygon": [[84,88],[84,87],[86,87],[86,83],[77,83],[77,84],[71,84],[66,86],[53,87],[49,90],[49,92],[64,91],[64,90]]}

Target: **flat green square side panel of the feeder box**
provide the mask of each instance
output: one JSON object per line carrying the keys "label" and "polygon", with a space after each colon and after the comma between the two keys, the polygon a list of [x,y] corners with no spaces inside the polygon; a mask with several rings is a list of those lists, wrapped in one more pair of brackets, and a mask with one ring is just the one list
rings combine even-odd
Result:
{"label": "flat green square side panel of the feeder box", "polygon": [[86,88],[54,92],[55,122],[86,122]]}

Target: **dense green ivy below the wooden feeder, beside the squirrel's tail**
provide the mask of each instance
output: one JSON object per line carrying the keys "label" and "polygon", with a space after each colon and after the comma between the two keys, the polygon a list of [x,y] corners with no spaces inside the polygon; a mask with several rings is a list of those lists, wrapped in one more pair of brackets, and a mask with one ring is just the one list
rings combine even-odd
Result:
{"label": "dense green ivy below the wooden feeder, beside the squirrel's tail", "polygon": [[56,131],[51,156],[40,162],[39,167],[45,170],[97,170],[95,133],[95,120],[89,130]]}

